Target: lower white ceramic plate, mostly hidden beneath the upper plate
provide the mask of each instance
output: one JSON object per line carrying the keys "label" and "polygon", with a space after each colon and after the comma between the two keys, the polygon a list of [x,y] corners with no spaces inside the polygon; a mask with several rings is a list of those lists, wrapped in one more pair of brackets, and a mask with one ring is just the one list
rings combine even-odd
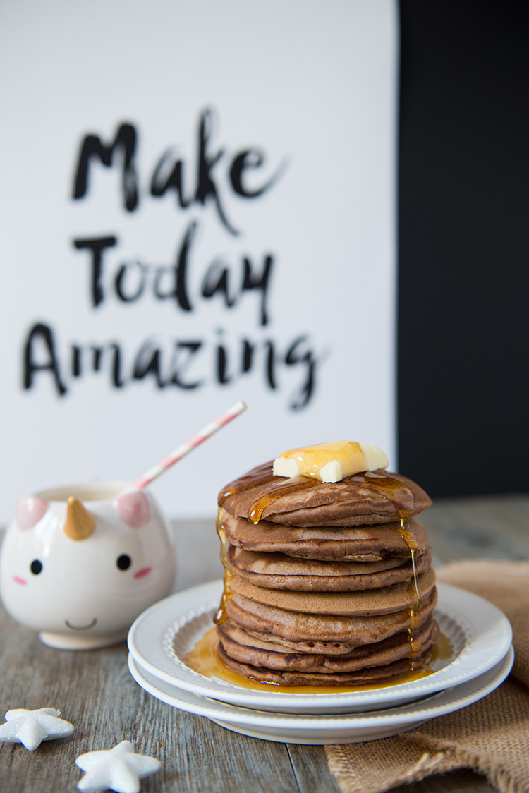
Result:
{"label": "lower white ceramic plate, mostly hidden beneath the upper plate", "polygon": [[254,711],[196,696],[150,675],[136,665],[130,653],[128,668],[136,683],[156,699],[181,711],[206,716],[233,732],[267,741],[323,745],[374,741],[412,730],[430,718],[458,711],[497,688],[511,671],[513,661],[511,648],[489,672],[412,705],[363,714],[317,716]]}

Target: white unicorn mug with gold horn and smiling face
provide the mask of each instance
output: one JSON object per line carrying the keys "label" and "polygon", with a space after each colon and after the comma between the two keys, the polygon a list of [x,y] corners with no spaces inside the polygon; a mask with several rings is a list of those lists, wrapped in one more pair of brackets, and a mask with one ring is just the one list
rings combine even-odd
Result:
{"label": "white unicorn mug with gold horn and smiling face", "polygon": [[171,593],[174,569],[150,493],[124,482],[56,488],[19,501],[0,551],[0,597],[44,644],[104,647]]}

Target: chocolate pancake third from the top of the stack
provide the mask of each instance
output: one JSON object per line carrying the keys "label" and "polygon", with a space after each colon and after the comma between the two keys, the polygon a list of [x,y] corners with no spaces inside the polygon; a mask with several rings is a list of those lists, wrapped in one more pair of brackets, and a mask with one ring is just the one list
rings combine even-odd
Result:
{"label": "chocolate pancake third from the top of the stack", "polygon": [[[410,558],[384,561],[320,561],[294,559],[286,554],[262,554],[228,546],[228,564],[236,575],[259,587],[297,592],[352,592],[379,589],[413,576]],[[416,573],[426,573],[431,551],[416,558]]]}

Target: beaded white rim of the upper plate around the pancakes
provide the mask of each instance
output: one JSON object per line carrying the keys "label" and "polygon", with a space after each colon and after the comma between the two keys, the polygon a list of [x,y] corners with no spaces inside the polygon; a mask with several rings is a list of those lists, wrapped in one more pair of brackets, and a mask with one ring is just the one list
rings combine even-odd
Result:
{"label": "beaded white rim of the upper plate around the pancakes", "polygon": [[[139,617],[136,618],[128,632],[128,649],[133,659],[141,668],[151,675],[163,680],[170,685],[177,685],[182,690],[190,691],[195,695],[217,699],[224,703],[243,705],[243,707],[261,707],[263,710],[305,711],[319,710],[324,707],[347,707],[349,705],[361,707],[373,706],[381,703],[396,703],[403,699],[418,699],[453,687],[480,676],[499,663],[512,643],[512,628],[503,611],[493,603],[481,596],[475,595],[466,589],[455,587],[453,584],[438,582],[439,603],[436,612],[447,615],[463,630],[466,644],[458,657],[454,658],[446,667],[434,672],[420,681],[396,684],[389,688],[371,689],[370,691],[351,691],[336,694],[297,694],[279,693],[273,690],[252,691],[247,688],[237,688],[232,684],[217,684],[213,678],[200,675],[194,670],[176,665],[163,648],[164,637],[178,622],[180,629],[190,623],[192,619],[204,614],[209,608],[214,608],[222,592],[222,580],[209,581],[175,592],[173,595],[154,603]],[[456,607],[455,604],[458,604]],[[466,614],[462,607],[466,603]],[[496,646],[496,652],[485,653],[480,663],[468,664],[468,656],[472,656],[472,643],[478,640],[483,644],[483,636],[476,634],[476,617],[470,619],[469,614],[479,615],[481,623],[490,629],[496,623],[496,632],[499,632],[501,641]],[[480,622],[478,620],[478,624]],[[474,635],[473,635],[474,631]],[[178,631],[177,631],[178,632]],[[482,654],[482,653],[481,653]],[[466,661],[466,663],[465,663]],[[175,682],[178,681],[178,682]],[[270,699],[272,701],[270,701]]]}

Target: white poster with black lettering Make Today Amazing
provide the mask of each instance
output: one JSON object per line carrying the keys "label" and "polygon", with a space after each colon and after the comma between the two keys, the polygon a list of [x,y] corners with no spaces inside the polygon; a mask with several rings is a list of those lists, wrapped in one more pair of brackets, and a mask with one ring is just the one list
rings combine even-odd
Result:
{"label": "white poster with black lettering Make Today Amazing", "polygon": [[136,480],[209,516],[294,446],[395,458],[392,0],[2,6],[1,519]]}

